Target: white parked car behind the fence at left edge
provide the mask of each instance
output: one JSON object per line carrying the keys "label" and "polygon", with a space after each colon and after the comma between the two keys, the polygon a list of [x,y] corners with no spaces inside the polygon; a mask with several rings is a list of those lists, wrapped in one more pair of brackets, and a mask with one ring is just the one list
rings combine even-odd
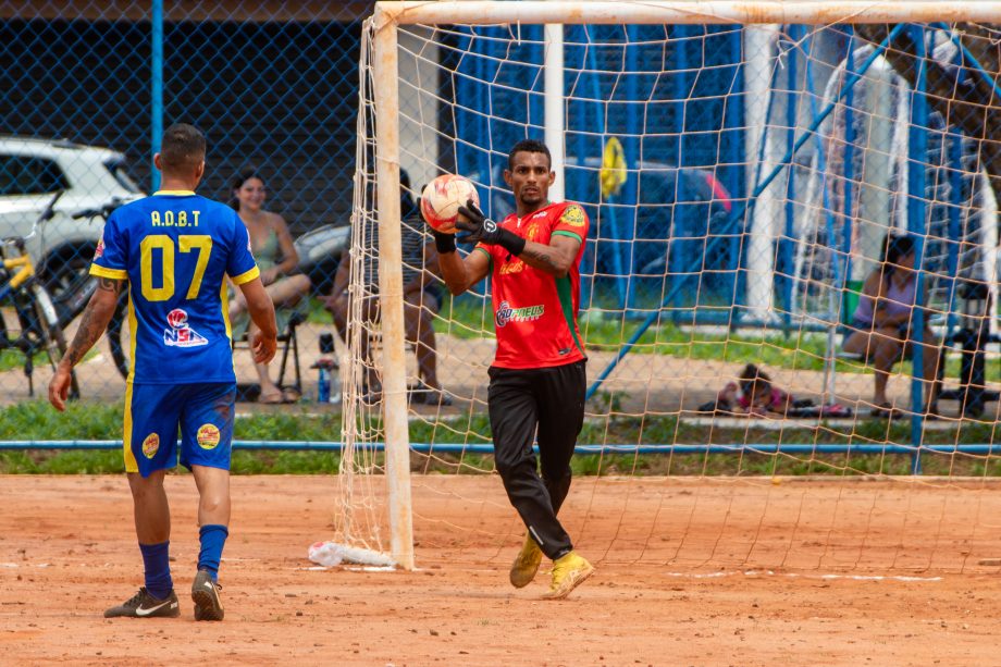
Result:
{"label": "white parked car behind the fence at left edge", "polygon": [[[39,215],[59,192],[51,219],[40,223]],[[143,196],[120,152],[59,139],[0,136],[0,237],[26,238],[61,324],[83,310],[96,287],[88,270],[104,225],[100,217],[73,214]]]}

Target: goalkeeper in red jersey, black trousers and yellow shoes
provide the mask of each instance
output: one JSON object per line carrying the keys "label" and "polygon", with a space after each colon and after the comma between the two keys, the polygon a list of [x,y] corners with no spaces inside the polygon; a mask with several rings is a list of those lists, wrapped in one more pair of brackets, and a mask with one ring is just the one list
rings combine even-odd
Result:
{"label": "goalkeeper in red jersey, black trousers and yellow shoes", "polygon": [[[528,528],[510,580],[528,585],[544,554],[554,561],[544,595],[552,600],[566,597],[594,572],[556,518],[570,490],[570,457],[584,421],[586,356],[577,310],[589,221],[580,206],[548,200],[555,177],[545,144],[519,141],[504,172],[516,211],[495,223],[472,201],[460,207],[456,226],[466,234],[459,240],[477,243],[465,258],[453,234],[434,233],[452,294],[491,276],[497,354],[487,404],[494,458]],[[532,449],[536,436],[541,477]]]}

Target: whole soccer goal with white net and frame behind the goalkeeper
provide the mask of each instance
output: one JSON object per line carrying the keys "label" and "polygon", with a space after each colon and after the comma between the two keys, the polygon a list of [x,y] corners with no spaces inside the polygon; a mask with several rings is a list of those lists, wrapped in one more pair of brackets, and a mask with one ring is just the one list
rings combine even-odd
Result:
{"label": "whole soccer goal with white net and frame behind the goalkeeper", "polygon": [[[407,567],[415,543],[418,560],[499,561],[520,543],[491,456],[490,284],[453,298],[411,207],[458,173],[504,218],[508,150],[536,138],[554,153],[551,195],[592,223],[589,400],[560,514],[582,548],[957,570],[989,551],[998,16],[976,3],[762,3],[753,24],[729,3],[699,16],[664,2],[378,4],[336,539]],[[888,235],[915,257],[892,297]],[[867,293],[880,270],[888,286]],[[885,323],[888,298],[909,313],[889,365],[875,343],[848,349],[867,317]],[[770,379],[761,405],[749,365]]]}

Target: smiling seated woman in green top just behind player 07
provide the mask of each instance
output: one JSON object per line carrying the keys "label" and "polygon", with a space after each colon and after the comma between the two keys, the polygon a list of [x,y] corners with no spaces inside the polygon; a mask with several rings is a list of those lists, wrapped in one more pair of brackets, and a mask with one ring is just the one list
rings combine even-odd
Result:
{"label": "smiling seated woman in green top just behind player 07", "polygon": [[[299,263],[299,255],[296,252],[285,220],[277,213],[264,210],[267,196],[263,178],[252,169],[245,170],[233,182],[231,206],[239,212],[240,220],[247,225],[250,248],[261,270],[261,281],[277,310],[294,306],[309,294],[310,283],[305,274],[294,273]],[[230,321],[235,321],[246,310],[246,301],[236,293],[230,302]],[[249,333],[252,335],[254,323],[250,322],[249,326]],[[254,366],[260,379],[260,403],[292,403],[299,398],[294,390],[283,391],[271,380],[268,365]]]}

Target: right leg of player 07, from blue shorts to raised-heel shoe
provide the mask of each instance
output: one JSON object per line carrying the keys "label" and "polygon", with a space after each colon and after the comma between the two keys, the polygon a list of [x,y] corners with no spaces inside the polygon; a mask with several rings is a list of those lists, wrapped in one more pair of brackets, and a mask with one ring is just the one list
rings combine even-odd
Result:
{"label": "right leg of player 07, from blue shorts to raised-heel shoe", "polygon": [[236,386],[193,385],[181,415],[181,462],[190,468],[198,486],[201,548],[191,584],[195,620],[222,620],[219,565],[230,535],[230,453]]}

